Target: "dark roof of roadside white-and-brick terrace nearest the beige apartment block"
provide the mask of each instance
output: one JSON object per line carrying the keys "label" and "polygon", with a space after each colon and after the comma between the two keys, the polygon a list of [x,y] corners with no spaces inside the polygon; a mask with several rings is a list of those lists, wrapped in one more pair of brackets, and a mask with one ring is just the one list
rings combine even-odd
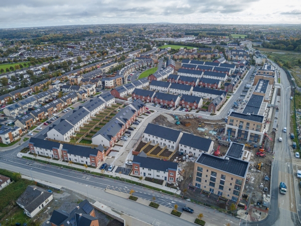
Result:
{"label": "dark roof of roadside white-and-brick terrace nearest the beige apartment block", "polygon": [[172,170],[178,169],[178,163],[175,162],[162,161],[160,159],[146,158],[146,157],[135,156],[135,155],[133,157],[133,163],[138,163],[142,168],[159,170],[164,172],[166,172],[169,169]]}

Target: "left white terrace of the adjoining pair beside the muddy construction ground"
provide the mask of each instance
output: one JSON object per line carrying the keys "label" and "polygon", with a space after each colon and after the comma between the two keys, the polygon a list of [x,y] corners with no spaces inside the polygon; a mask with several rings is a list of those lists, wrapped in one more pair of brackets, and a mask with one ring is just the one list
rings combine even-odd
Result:
{"label": "left white terrace of the adjoining pair beside the muddy construction ground", "polygon": [[161,146],[167,146],[168,149],[176,150],[179,147],[182,135],[183,133],[178,130],[150,123],[143,132],[143,140],[151,141],[154,144],[159,143]]}

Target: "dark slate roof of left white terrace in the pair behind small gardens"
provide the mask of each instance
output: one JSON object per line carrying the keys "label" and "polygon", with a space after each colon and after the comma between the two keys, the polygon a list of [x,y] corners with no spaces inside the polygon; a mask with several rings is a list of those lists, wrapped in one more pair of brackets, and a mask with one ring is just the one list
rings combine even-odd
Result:
{"label": "dark slate roof of left white terrace in the pair behind small gardens", "polygon": [[181,134],[180,131],[178,130],[173,130],[167,127],[162,127],[159,125],[155,125],[152,123],[149,123],[145,130],[144,130],[145,134],[149,134],[149,135],[154,135],[156,137],[160,137],[169,141],[174,141],[176,142]]}

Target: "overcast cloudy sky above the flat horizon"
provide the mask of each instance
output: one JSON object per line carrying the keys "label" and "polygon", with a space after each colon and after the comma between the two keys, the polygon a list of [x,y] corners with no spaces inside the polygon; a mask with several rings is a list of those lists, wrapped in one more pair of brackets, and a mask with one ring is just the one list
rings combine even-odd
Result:
{"label": "overcast cloudy sky above the flat horizon", "polygon": [[124,23],[301,24],[301,0],[9,0],[0,28]]}

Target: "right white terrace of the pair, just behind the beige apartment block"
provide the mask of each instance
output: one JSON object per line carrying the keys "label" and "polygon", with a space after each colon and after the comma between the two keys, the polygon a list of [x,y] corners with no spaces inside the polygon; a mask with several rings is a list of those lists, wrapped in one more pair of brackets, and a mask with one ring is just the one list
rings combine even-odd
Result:
{"label": "right white terrace of the pair, just behind the beige apartment block", "polygon": [[214,142],[211,139],[202,138],[192,134],[183,133],[179,142],[179,151],[193,156],[200,156],[201,153],[211,154],[213,152]]}

